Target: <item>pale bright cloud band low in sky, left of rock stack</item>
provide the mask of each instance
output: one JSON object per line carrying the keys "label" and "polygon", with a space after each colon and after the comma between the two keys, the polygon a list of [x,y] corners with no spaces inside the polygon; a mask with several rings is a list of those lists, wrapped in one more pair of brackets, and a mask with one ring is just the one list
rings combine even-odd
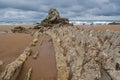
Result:
{"label": "pale bright cloud band low in sky, left of rock stack", "polygon": [[[7,8],[7,9],[2,9],[0,10],[0,18],[4,18],[4,19],[33,19],[38,17],[38,15],[40,13],[35,12],[35,11],[23,11],[23,10],[19,10],[19,9],[11,9],[11,8]],[[41,13],[41,15],[43,15]]]}

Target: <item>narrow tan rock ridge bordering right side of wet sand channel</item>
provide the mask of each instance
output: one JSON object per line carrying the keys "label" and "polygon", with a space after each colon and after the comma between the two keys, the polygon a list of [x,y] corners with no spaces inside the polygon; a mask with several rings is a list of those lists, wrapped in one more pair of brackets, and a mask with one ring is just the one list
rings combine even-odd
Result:
{"label": "narrow tan rock ridge bordering right side of wet sand channel", "polygon": [[52,35],[53,38],[53,44],[55,48],[55,56],[56,56],[56,66],[57,66],[57,80],[68,80],[69,78],[69,67],[67,67],[67,59],[66,57],[61,54],[63,53],[63,49],[60,47],[60,39],[56,38],[56,34],[50,33],[49,35]]}

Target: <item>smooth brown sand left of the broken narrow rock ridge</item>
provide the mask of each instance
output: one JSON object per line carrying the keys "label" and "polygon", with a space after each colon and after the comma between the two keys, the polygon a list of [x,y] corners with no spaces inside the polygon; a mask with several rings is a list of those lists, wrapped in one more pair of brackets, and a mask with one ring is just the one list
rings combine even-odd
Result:
{"label": "smooth brown sand left of the broken narrow rock ridge", "polygon": [[4,62],[1,70],[23,53],[31,40],[26,34],[0,34],[0,60]]}

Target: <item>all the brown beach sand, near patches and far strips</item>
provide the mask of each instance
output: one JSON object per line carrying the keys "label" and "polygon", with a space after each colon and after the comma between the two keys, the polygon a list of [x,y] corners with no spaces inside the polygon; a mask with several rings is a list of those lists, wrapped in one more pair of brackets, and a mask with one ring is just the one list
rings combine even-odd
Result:
{"label": "all the brown beach sand, near patches and far strips", "polygon": [[[5,66],[14,61],[24,49],[30,45],[33,37],[30,34],[24,33],[7,33],[16,26],[23,26],[25,28],[33,27],[34,25],[0,25],[0,60],[4,62],[0,68],[0,72],[5,69]],[[99,25],[95,27],[89,27],[90,30],[117,30],[120,31],[119,25]],[[39,52],[39,56],[36,60],[32,56]],[[47,34],[41,34],[39,42],[32,49],[31,56],[25,62],[20,75],[17,80],[23,80],[28,69],[32,67],[33,73],[31,80],[56,80],[57,69],[55,52],[52,43],[52,39]]]}

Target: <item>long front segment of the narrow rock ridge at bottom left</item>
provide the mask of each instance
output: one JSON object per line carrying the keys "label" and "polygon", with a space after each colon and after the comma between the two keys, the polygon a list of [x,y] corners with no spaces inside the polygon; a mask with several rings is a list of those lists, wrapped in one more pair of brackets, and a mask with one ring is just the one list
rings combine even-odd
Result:
{"label": "long front segment of the narrow rock ridge at bottom left", "polygon": [[4,72],[2,72],[0,75],[0,80],[16,80],[24,62],[30,53],[31,49],[27,47],[23,54],[21,54],[15,61],[6,66]]}

